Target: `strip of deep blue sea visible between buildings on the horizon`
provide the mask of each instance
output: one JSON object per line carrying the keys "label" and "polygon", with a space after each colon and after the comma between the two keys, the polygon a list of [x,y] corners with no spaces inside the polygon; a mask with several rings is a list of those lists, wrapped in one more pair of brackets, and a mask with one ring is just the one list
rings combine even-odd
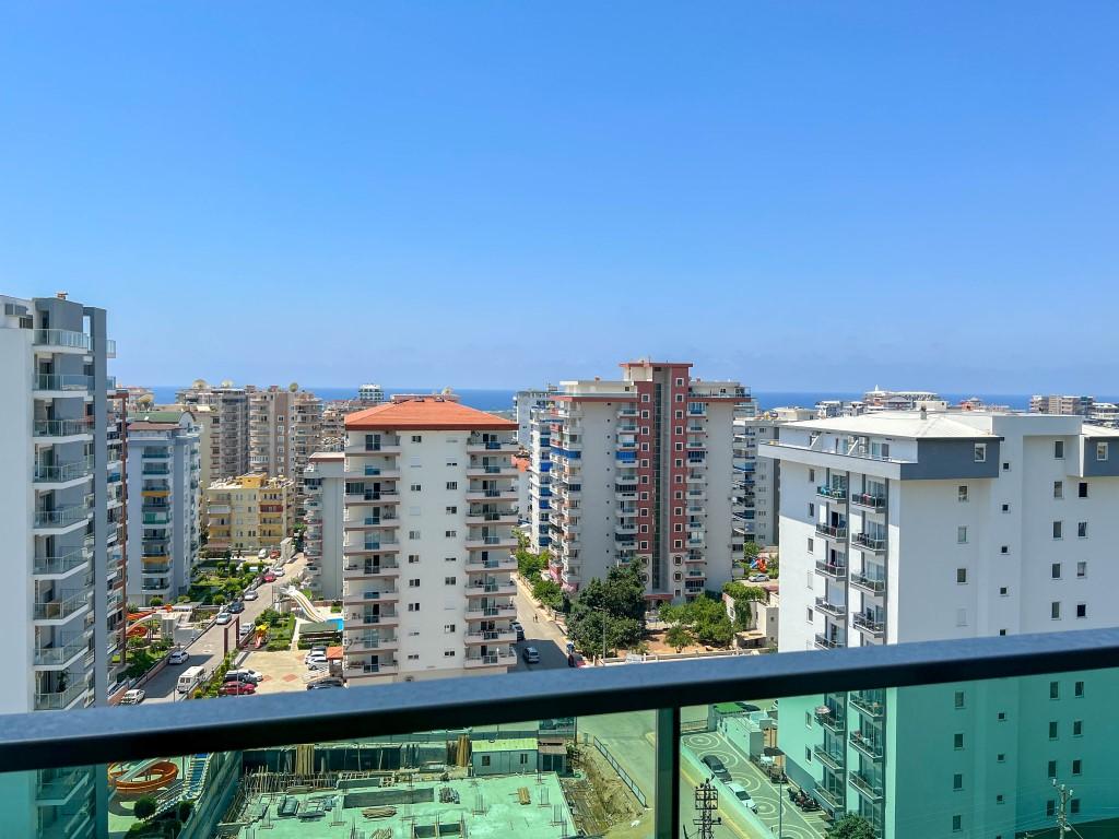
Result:
{"label": "strip of deep blue sea visible between buildings on the horizon", "polygon": [[[176,392],[181,390],[184,387],[186,386],[159,385],[151,387],[151,390],[156,397],[157,404],[169,404],[175,402]],[[355,387],[314,387],[311,385],[308,386],[307,389],[311,390],[319,398],[326,400],[357,398],[357,388]],[[438,390],[439,388],[433,387],[386,387],[385,394],[430,394],[436,393]],[[461,390],[455,390],[455,393],[462,399],[463,405],[469,405],[470,407],[478,408],[479,411],[511,411],[513,395],[516,390],[501,388],[463,388]],[[753,396],[758,399],[758,407],[762,411],[784,406],[810,408],[815,406],[816,403],[825,399],[852,400],[863,398],[862,393],[855,392],[830,393],[812,390],[754,390]],[[1027,411],[1029,408],[1028,394],[940,394],[940,398],[948,400],[949,404],[958,404],[962,399],[969,399],[972,397],[978,397],[987,405],[1006,406],[1013,411]],[[1098,397],[1098,399],[1119,402],[1119,398],[1117,397],[1104,396]]]}

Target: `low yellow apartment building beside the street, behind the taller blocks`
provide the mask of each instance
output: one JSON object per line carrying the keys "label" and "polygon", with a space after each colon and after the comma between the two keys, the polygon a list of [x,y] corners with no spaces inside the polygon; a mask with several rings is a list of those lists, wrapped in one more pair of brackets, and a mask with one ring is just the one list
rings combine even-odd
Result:
{"label": "low yellow apartment building beside the street, behind the taller blocks", "polygon": [[294,524],[294,498],[295,486],[286,478],[245,474],[211,483],[206,489],[206,547],[210,555],[279,550]]}

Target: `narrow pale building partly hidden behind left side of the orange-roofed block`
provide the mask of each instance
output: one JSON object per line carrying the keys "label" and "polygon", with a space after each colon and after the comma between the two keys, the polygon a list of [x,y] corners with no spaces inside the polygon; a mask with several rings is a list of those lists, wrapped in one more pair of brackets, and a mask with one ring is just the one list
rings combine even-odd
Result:
{"label": "narrow pale building partly hidden behind left side of the orange-roofed block", "polygon": [[[346,455],[316,452],[303,470],[303,554],[311,588],[326,600],[342,596],[342,496],[346,489]],[[327,526],[323,526],[323,525]]]}

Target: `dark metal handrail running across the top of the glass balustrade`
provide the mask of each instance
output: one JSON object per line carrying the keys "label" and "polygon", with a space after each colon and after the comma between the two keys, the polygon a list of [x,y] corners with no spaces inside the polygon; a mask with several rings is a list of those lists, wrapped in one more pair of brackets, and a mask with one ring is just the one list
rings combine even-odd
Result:
{"label": "dark metal handrail running across the top of the glass balustrade", "polygon": [[[1119,667],[1119,628],[433,679],[82,714],[0,716],[0,765],[37,770],[657,709]],[[168,732],[175,732],[169,736]],[[678,732],[678,728],[677,728]]]}

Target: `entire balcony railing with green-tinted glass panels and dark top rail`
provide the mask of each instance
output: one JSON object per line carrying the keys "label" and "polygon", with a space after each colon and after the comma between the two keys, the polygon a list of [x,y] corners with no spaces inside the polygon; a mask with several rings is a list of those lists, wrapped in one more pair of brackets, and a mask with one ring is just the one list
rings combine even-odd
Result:
{"label": "entire balcony railing with green-tinted glass panels and dark top rail", "polygon": [[[510,664],[507,637],[474,630],[460,667]],[[900,839],[1056,836],[1063,813],[1072,836],[1119,829],[1119,629],[577,672],[545,653],[532,673],[378,684],[407,678],[394,639],[347,633],[341,689],[8,717],[7,823],[242,839],[675,839],[714,823],[715,839],[824,839],[854,816],[856,835]],[[37,708],[79,704],[77,675],[49,677]]]}

